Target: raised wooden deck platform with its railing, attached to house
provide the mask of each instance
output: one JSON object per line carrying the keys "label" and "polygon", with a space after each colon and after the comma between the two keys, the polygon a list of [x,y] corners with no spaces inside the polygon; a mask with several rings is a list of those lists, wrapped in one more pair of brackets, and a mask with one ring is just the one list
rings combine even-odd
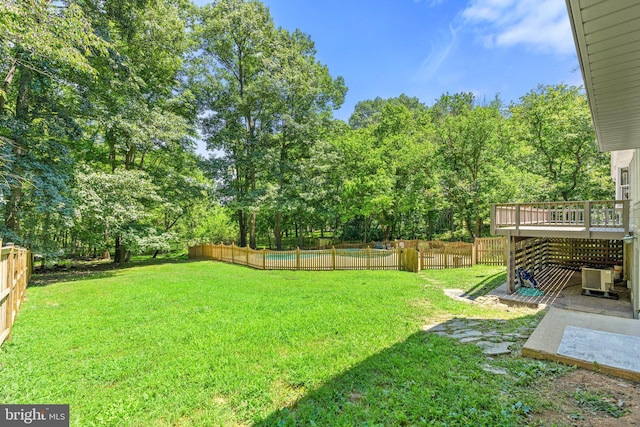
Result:
{"label": "raised wooden deck platform with its railing, attached to house", "polygon": [[491,229],[508,237],[622,239],[629,231],[629,201],[492,205]]}

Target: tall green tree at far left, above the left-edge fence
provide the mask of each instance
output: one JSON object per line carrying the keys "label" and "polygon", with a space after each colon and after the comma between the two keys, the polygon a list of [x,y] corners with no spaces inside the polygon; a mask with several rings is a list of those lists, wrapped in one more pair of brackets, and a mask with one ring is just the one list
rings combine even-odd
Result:
{"label": "tall green tree at far left, above the left-edge fence", "polygon": [[[69,158],[65,145],[78,135],[73,79],[81,74],[95,76],[88,55],[103,54],[107,46],[94,34],[77,2],[9,0],[0,4],[0,174],[6,201],[5,238],[25,243],[21,220],[34,183],[48,176],[55,178],[49,182],[66,186]],[[36,200],[46,203],[48,198]],[[60,204],[58,197],[50,200]],[[38,206],[50,211],[55,205]]]}

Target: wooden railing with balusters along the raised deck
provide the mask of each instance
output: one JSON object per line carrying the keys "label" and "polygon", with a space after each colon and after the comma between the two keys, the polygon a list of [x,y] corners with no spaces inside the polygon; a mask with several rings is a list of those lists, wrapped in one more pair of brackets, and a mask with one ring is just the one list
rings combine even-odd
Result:
{"label": "wooden railing with balusters along the raised deck", "polygon": [[628,200],[509,203],[492,205],[494,234],[521,227],[581,227],[629,230]]}

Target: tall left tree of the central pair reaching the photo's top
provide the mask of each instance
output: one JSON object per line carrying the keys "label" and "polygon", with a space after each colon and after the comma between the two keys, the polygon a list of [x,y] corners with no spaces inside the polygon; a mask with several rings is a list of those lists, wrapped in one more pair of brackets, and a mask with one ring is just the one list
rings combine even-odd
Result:
{"label": "tall left tree of the central pair reaching the photo's top", "polygon": [[199,95],[207,147],[222,150],[220,173],[240,230],[240,245],[255,247],[258,162],[270,135],[274,87],[266,72],[275,28],[258,1],[223,0],[202,9],[202,54],[193,85]]}

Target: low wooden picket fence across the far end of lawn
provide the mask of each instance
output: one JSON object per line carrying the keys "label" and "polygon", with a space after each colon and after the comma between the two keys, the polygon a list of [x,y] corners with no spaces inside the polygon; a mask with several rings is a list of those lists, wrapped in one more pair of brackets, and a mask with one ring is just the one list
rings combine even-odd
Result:
{"label": "low wooden picket fence across the far end of lawn", "polygon": [[[191,259],[212,259],[259,270],[403,270],[504,265],[504,238],[477,239],[476,243],[401,241],[357,248],[271,251],[235,245],[201,244],[189,248]],[[373,245],[371,245],[373,246]],[[389,248],[389,249],[387,249]]]}

